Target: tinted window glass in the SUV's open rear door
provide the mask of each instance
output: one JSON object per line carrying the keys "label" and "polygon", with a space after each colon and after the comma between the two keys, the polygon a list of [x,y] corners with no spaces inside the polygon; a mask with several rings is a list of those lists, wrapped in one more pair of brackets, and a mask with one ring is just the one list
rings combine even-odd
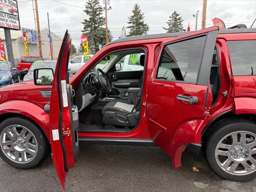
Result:
{"label": "tinted window glass in the SUV's open rear door", "polygon": [[196,83],[205,41],[201,36],[165,46],[156,78]]}

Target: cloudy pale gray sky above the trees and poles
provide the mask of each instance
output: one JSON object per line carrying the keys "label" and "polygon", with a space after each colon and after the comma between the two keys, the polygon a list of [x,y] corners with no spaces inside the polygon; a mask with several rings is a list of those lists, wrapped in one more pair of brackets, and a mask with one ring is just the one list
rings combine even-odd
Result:
{"label": "cloudy pale gray sky above the trees and poles", "polygon": [[[82,11],[86,2],[87,0],[38,0],[40,27],[48,28],[47,12],[49,12],[51,31],[63,37],[65,30],[68,29],[73,44],[79,47],[83,28],[81,22],[87,18]],[[166,21],[174,10],[184,19],[184,28],[187,28],[189,23],[191,30],[195,30],[196,23],[192,15],[199,10],[198,29],[201,29],[202,2],[202,0],[110,0],[112,10],[108,11],[108,27],[114,39],[118,38],[122,27],[128,26],[128,16],[131,16],[134,4],[138,3],[144,12],[145,22],[150,26],[148,34],[165,32],[162,26],[166,26]],[[100,0],[100,4],[103,6],[103,0]],[[21,27],[35,28],[32,0],[18,0],[18,7]],[[211,20],[215,17],[222,19],[226,27],[238,23],[250,27],[256,18],[256,0],[208,0],[206,27],[213,26]]]}

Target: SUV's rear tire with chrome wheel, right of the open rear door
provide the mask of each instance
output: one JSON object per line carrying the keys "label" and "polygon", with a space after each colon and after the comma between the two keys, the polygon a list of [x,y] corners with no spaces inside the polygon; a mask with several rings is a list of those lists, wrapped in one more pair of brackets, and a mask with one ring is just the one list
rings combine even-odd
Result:
{"label": "SUV's rear tire with chrome wheel, right of the open rear door", "polygon": [[203,149],[212,170],[232,181],[256,178],[256,124],[228,118],[214,124],[211,130]]}

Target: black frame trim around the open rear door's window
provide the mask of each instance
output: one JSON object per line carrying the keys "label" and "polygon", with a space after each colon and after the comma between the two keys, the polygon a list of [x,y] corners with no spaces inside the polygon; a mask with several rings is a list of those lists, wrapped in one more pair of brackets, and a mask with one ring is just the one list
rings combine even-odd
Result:
{"label": "black frame trim around the open rear door's window", "polygon": [[176,83],[194,84],[194,85],[196,85],[197,82],[198,82],[198,76],[199,76],[199,73],[200,73],[200,68],[201,68],[201,65],[202,65],[202,60],[203,60],[203,57],[204,57],[204,53],[203,53],[203,56],[202,56],[202,59],[201,59],[201,62],[200,62],[199,68],[198,68],[198,73],[197,73],[197,77],[196,77],[196,82],[181,81],[181,80],[158,79],[158,78],[157,78],[157,74],[158,74],[160,62],[161,62],[161,60],[162,60],[163,52],[164,52],[166,46],[168,46],[168,45],[170,45],[170,44],[178,43],[178,42],[183,42],[183,41],[186,41],[186,40],[191,40],[191,39],[195,39],[195,38],[204,37],[204,36],[206,36],[206,40],[205,40],[205,42],[204,42],[204,49],[205,49],[206,42],[207,42],[207,37],[208,37],[208,32],[207,32],[207,33],[204,33],[204,34],[199,34],[199,35],[196,35],[196,36],[192,36],[192,37],[188,37],[188,38],[176,40],[176,41],[170,42],[170,43],[168,43],[168,44],[165,44],[165,45],[164,45],[164,48],[162,49],[162,52],[161,52],[161,56],[160,56],[160,60],[159,60],[159,62],[158,62],[158,68],[157,68],[157,71],[156,71],[156,75],[155,75],[155,77],[154,77],[154,80],[157,80],[157,81],[165,81],[165,82],[176,82]]}

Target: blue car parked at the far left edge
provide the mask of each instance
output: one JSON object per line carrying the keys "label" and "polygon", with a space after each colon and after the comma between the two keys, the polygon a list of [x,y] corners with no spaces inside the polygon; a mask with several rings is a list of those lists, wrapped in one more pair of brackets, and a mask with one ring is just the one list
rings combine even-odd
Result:
{"label": "blue car parked at the far left edge", "polygon": [[0,61],[0,88],[20,82],[18,69],[8,61]]}

